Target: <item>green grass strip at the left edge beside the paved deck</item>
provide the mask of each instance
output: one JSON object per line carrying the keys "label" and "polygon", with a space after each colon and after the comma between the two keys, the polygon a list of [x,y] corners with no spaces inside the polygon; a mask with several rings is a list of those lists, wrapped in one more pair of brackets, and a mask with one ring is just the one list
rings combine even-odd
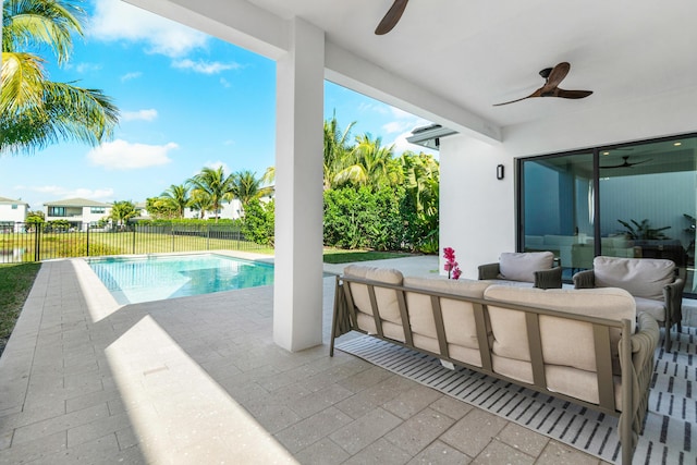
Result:
{"label": "green grass strip at the left edge beside the paved deck", "polygon": [[41,264],[0,265],[0,353],[14,329]]}

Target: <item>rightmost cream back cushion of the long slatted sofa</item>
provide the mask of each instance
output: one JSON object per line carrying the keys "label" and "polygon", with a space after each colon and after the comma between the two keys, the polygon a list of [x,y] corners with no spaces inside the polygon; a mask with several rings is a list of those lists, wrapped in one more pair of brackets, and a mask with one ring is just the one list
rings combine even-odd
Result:
{"label": "rightmost cream back cushion of the long slatted sofa", "polygon": [[[632,295],[622,289],[541,290],[492,285],[485,292],[485,298],[615,321],[628,319],[632,332],[635,331],[635,302]],[[525,313],[497,307],[496,304],[488,305],[488,310],[493,333],[493,353],[529,362]],[[590,323],[563,316],[540,315],[539,326],[546,364],[596,370],[594,331]],[[619,330],[611,331],[611,348],[615,355],[620,338]],[[615,368],[619,366],[615,365]]]}

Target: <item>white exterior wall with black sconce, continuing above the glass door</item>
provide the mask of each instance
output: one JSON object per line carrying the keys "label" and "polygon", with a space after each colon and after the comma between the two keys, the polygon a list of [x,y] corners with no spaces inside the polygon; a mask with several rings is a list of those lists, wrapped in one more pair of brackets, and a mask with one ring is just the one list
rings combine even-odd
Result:
{"label": "white exterior wall with black sconce, continuing above the glass door", "polygon": [[[516,105],[577,105],[540,99]],[[599,145],[697,131],[692,94],[663,95],[606,113],[576,112],[553,121],[504,127],[501,144],[464,135],[441,139],[440,247],[453,247],[463,278],[477,278],[477,266],[515,250],[514,159]],[[496,178],[497,164],[505,179]],[[441,252],[442,255],[442,252]],[[443,259],[441,257],[441,270]],[[442,273],[443,271],[441,271]]]}

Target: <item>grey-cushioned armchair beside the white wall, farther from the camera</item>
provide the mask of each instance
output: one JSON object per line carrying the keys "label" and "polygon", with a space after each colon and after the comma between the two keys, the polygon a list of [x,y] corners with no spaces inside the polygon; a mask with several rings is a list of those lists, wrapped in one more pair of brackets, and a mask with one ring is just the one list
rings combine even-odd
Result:
{"label": "grey-cushioned armchair beside the white wall, farther from the camera", "polygon": [[479,266],[479,279],[530,282],[539,289],[559,289],[562,269],[554,267],[551,252],[504,252],[498,262]]}

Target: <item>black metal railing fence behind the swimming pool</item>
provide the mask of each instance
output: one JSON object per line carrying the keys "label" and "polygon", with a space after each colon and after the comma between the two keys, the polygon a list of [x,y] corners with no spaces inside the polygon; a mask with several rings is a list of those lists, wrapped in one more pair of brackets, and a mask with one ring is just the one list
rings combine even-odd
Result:
{"label": "black metal railing fence behind the swimming pool", "polygon": [[0,262],[195,250],[258,250],[232,224],[158,224],[110,230],[16,223],[0,228]]}

